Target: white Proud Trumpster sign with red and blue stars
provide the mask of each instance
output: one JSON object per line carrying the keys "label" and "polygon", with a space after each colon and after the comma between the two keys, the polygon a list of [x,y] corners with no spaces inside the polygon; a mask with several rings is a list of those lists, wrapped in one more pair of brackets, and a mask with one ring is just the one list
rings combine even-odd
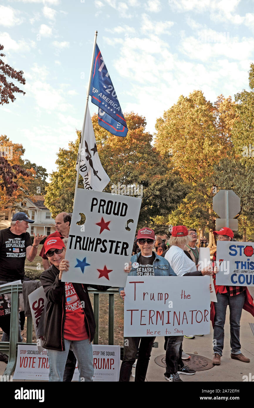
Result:
{"label": "white Proud Trumpster sign with red and blue stars", "polygon": [[[62,281],[125,286],[140,206],[140,198],[78,188]],[[82,214],[86,221],[77,225]]]}

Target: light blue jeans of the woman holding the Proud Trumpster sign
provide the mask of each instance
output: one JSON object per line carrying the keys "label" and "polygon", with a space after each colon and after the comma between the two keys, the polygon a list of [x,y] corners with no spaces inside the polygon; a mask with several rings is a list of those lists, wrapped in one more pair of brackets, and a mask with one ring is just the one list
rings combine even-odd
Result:
{"label": "light blue jeans of the woman holding the Proud Trumpster sign", "polygon": [[79,381],[93,381],[93,349],[87,340],[64,339],[65,351],[47,350],[49,357],[49,381],[63,381],[64,368],[71,349],[78,362]]}

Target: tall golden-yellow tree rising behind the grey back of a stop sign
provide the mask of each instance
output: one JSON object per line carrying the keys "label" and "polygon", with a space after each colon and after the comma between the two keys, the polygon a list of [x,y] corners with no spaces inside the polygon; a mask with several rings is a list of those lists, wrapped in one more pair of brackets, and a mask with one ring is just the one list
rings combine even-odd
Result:
{"label": "tall golden-yellow tree rising behind the grey back of a stop sign", "polygon": [[173,168],[190,186],[190,192],[169,215],[168,223],[206,228],[210,245],[216,218],[212,210],[216,192],[214,164],[230,152],[234,118],[230,97],[220,95],[213,105],[201,91],[194,91],[188,98],[181,95],[155,126],[155,146],[170,157]]}

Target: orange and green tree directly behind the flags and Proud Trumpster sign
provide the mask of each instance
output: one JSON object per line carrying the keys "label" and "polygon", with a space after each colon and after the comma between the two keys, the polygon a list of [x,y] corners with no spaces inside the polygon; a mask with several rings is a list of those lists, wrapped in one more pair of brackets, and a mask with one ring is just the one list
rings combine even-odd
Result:
{"label": "orange and green tree directly behind the flags and Proud Trumpster sign", "polygon": [[[133,112],[124,116],[129,129],[126,137],[111,135],[98,125],[97,115],[92,117],[99,157],[110,177],[105,191],[112,191],[112,186],[118,183],[142,185],[138,226],[150,226],[157,215],[166,216],[176,208],[187,189],[179,173],[170,166],[169,157],[163,158],[152,147],[152,135],[145,130],[145,118]],[[79,139],[69,144],[68,151],[60,149],[58,154],[58,169],[51,175],[45,201],[53,216],[60,211],[72,211]]]}

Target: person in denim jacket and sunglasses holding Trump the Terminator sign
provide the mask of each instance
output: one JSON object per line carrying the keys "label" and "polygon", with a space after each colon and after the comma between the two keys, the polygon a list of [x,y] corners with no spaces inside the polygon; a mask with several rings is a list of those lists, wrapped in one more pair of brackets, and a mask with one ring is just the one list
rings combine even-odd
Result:
{"label": "person in denim jacket and sunglasses holding Trump the Terminator sign", "polygon": [[[141,252],[130,259],[132,264],[129,276],[176,276],[168,261],[152,251],[155,244],[155,232],[150,228],[141,228],[137,233],[137,244]],[[159,266],[159,267],[158,267]],[[164,267],[164,269],[162,268]],[[125,297],[124,288],[119,288],[122,299]],[[119,381],[130,381],[133,363],[137,359],[135,381],[144,382],[152,351],[152,344],[156,337],[125,337],[124,358],[121,364]],[[124,341],[124,344],[126,344]],[[139,344],[140,343],[140,344]],[[172,356],[173,358],[173,356]],[[177,359],[177,356],[175,356]]]}

